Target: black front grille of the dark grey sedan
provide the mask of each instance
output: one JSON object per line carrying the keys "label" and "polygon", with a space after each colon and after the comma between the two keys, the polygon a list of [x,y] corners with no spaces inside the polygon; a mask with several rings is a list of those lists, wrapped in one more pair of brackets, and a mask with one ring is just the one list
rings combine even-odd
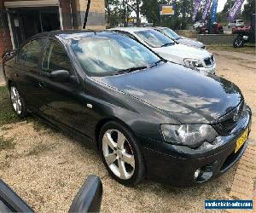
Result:
{"label": "black front grille of the dark grey sedan", "polygon": [[237,122],[243,116],[242,109],[244,104],[244,101],[242,101],[235,109],[220,118],[218,124],[214,125],[219,135],[229,135],[231,130],[236,127]]}

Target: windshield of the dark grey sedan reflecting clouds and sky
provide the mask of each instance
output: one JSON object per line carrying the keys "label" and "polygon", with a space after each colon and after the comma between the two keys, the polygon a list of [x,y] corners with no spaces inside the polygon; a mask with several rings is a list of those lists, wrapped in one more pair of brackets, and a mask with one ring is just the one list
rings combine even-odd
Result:
{"label": "windshield of the dark grey sedan reflecting clouds and sky", "polygon": [[71,47],[84,71],[93,76],[131,72],[160,61],[142,44],[118,34],[73,38]]}

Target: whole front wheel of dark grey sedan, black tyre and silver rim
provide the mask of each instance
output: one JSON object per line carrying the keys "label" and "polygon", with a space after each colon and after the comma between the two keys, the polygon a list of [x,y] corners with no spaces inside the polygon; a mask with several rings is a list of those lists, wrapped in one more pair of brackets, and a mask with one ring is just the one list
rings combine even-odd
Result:
{"label": "whole front wheel of dark grey sedan, black tyre and silver rim", "polygon": [[100,153],[108,173],[125,186],[135,186],[143,180],[143,155],[130,130],[117,122],[102,127]]}

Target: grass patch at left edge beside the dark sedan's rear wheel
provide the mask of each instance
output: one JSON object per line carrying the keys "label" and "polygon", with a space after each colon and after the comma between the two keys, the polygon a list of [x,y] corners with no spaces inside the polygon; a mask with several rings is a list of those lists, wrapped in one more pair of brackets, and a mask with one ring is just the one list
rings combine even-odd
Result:
{"label": "grass patch at left edge beside the dark sedan's rear wheel", "polygon": [[20,121],[9,101],[9,91],[6,86],[0,87],[0,127]]}

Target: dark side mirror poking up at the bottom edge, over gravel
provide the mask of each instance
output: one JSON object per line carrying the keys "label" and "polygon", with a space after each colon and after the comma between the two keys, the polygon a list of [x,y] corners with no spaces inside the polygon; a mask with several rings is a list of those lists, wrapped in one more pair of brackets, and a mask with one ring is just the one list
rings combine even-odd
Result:
{"label": "dark side mirror poking up at the bottom edge, over gravel", "polygon": [[99,212],[102,205],[102,181],[97,176],[89,176],[84,181],[68,212]]}

